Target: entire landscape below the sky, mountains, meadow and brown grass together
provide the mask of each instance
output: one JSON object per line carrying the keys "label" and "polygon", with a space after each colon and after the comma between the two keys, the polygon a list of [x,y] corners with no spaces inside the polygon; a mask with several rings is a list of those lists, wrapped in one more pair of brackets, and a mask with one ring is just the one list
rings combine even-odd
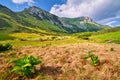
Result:
{"label": "entire landscape below the sky, mountains, meadow and brown grass together", "polygon": [[[32,57],[31,57],[32,56]],[[120,27],[0,5],[0,80],[119,80]]]}

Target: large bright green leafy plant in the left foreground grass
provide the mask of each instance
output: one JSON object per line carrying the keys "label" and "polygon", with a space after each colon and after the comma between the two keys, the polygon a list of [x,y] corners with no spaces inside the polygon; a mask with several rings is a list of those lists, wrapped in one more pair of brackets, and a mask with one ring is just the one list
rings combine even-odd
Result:
{"label": "large bright green leafy plant in the left foreground grass", "polygon": [[35,58],[34,56],[28,57],[25,55],[23,58],[14,61],[14,66],[12,67],[11,72],[30,77],[32,71],[35,70],[35,65],[40,63],[41,60],[39,58]]}

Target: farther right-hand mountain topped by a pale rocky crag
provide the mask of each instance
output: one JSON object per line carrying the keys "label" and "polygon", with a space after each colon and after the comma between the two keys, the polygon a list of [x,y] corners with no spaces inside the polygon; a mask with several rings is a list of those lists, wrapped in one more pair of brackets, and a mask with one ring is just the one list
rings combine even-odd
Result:
{"label": "farther right-hand mountain topped by a pale rocky crag", "polygon": [[60,21],[63,23],[68,31],[73,32],[86,32],[86,31],[98,31],[107,26],[97,24],[92,21],[89,17],[78,17],[78,18],[60,18]]}

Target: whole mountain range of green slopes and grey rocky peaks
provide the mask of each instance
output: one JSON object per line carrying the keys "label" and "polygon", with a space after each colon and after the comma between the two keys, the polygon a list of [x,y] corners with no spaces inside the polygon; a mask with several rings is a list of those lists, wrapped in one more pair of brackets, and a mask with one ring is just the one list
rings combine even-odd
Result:
{"label": "whole mountain range of green slopes and grey rocky peaks", "polygon": [[0,5],[0,31],[39,32],[39,33],[76,33],[98,31],[109,26],[100,25],[89,17],[58,17],[38,7],[13,12]]}

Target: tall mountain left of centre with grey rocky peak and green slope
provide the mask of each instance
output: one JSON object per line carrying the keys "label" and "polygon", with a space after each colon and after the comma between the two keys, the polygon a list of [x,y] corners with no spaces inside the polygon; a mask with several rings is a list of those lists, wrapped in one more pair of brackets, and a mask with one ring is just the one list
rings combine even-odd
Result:
{"label": "tall mountain left of centre with grey rocky peak and green slope", "polygon": [[[38,11],[41,12],[41,14],[38,14]],[[41,16],[43,14],[43,16]],[[67,31],[64,30],[61,26],[57,26],[55,24],[52,24],[52,22],[49,22],[50,19],[52,19],[51,14],[43,11],[37,7],[30,7],[28,9],[25,9],[22,12],[18,12],[17,15],[21,19],[19,20],[19,23],[25,25],[25,26],[31,26],[32,28],[37,28],[45,31],[52,31],[52,32],[62,32],[66,33]],[[54,15],[54,17],[57,17]],[[53,22],[56,21],[56,19],[53,17]],[[57,21],[58,22],[58,21]]]}

